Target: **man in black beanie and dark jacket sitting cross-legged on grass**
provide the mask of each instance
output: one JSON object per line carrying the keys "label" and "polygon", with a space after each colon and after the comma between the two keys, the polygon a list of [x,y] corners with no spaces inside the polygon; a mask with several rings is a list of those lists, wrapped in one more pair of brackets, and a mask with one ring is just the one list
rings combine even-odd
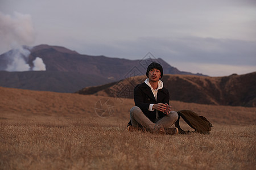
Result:
{"label": "man in black beanie and dark jacket sitting cross-legged on grass", "polygon": [[177,128],[170,128],[178,119],[171,111],[169,92],[163,87],[163,67],[152,62],[147,67],[147,79],[134,88],[135,107],[130,110],[128,130],[148,130],[152,133],[175,135]]}

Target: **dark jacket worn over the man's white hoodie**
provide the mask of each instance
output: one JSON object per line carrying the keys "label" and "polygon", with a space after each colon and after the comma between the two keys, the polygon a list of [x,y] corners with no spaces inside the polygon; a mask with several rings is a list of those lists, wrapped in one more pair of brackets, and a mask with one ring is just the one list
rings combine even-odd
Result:
{"label": "dark jacket worn over the man's white hoodie", "polygon": [[[150,104],[157,104],[157,103],[167,103],[169,105],[169,92],[166,88],[162,88],[158,90],[157,99],[155,100],[154,94],[151,91],[151,88],[147,86],[146,83],[138,84],[134,88],[134,102],[135,105],[141,108],[142,112],[151,120],[155,120],[156,110],[148,111],[148,107]],[[159,118],[166,116],[163,112],[158,111]],[[129,122],[129,125],[131,123]]]}

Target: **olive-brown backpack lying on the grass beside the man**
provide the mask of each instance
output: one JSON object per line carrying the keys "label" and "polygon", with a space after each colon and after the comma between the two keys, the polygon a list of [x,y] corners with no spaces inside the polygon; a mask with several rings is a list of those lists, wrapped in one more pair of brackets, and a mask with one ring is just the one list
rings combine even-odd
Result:
{"label": "olive-brown backpack lying on the grass beside the man", "polygon": [[[212,124],[205,118],[204,116],[199,116],[197,113],[189,110],[181,110],[177,111],[179,114],[178,120],[175,122],[175,127],[179,129],[180,134],[188,134],[188,133],[203,133],[210,134],[210,130],[212,130]],[[183,118],[187,124],[195,129],[195,131],[185,131],[180,128],[180,117]]]}

